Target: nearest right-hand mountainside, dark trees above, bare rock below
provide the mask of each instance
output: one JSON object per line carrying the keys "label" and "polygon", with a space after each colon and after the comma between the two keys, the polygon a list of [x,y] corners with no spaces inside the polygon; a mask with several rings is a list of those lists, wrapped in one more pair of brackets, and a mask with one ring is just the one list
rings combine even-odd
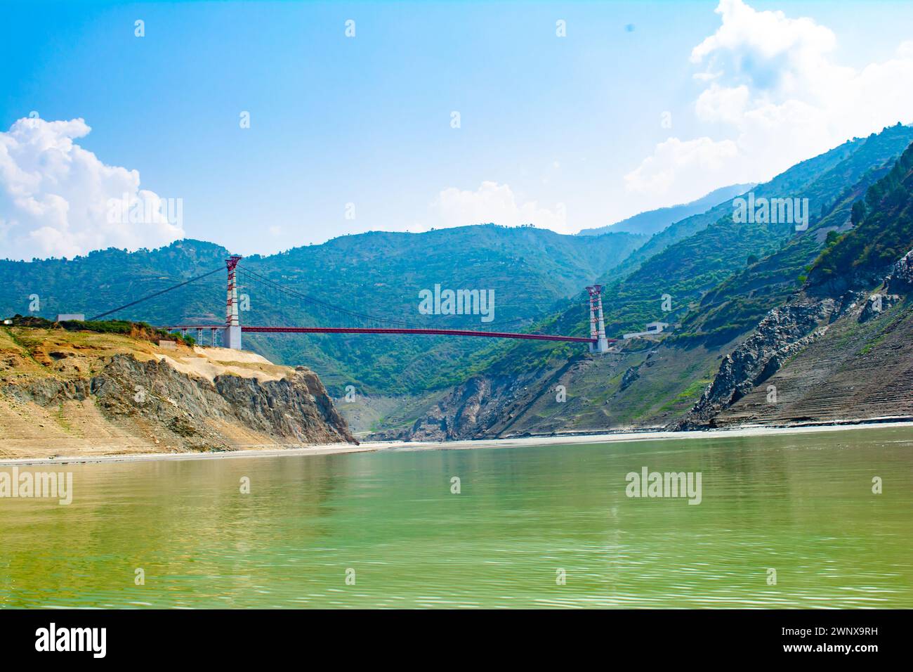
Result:
{"label": "nearest right-hand mountainside, dark trees above, bare rock below", "polygon": [[679,428],[913,417],[913,145]]}

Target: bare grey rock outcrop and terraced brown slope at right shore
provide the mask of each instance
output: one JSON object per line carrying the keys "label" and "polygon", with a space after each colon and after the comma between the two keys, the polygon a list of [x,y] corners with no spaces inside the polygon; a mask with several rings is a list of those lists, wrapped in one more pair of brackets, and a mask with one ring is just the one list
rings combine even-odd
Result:
{"label": "bare grey rock outcrop and terraced brown slope at right shore", "polygon": [[826,325],[782,335],[771,350],[746,342],[732,360],[756,364],[721,368],[676,428],[909,420],[913,304],[879,290],[848,294]]}

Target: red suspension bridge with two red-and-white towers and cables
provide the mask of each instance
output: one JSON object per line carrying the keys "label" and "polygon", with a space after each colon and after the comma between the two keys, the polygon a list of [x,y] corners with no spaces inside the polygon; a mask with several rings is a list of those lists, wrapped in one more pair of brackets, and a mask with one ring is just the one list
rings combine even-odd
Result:
{"label": "red suspension bridge with two red-and-white towers and cables", "polygon": [[[529,334],[529,333],[511,333],[511,332],[493,332],[493,331],[472,331],[467,329],[429,329],[417,325],[411,325],[409,323],[395,320],[393,318],[386,318],[378,315],[366,315],[359,313],[347,308],[342,308],[341,306],[329,304],[319,299],[307,296],[306,294],[299,293],[295,290],[285,287],[284,285],[267,278],[266,276],[261,275],[260,273],[251,271],[247,268],[238,265],[238,262],[241,261],[241,257],[233,255],[226,259],[226,270],[228,272],[228,284],[226,292],[226,321],[225,324],[219,325],[194,325],[194,324],[178,324],[178,325],[159,325],[159,328],[165,329],[167,331],[180,331],[182,334],[186,335],[188,332],[196,333],[196,340],[200,345],[204,345],[204,335],[206,332],[210,334],[210,344],[215,346],[217,343],[221,343],[222,347],[230,347],[237,350],[242,349],[241,345],[241,335],[244,333],[247,334],[402,334],[408,336],[475,336],[475,337],[487,337],[487,338],[519,338],[526,340],[540,340],[540,341],[564,341],[570,343],[586,343],[590,347],[591,352],[603,353],[608,351],[609,343],[614,343],[616,339],[606,338],[605,337],[605,323],[603,321],[603,298],[602,298],[602,285],[593,284],[587,287],[587,293],[589,294],[589,308],[590,308],[590,336],[556,336],[551,334]],[[152,299],[156,296],[160,296],[163,293],[171,292],[178,287],[184,287],[187,284],[193,283],[197,280],[205,278],[209,275],[212,275],[215,272],[219,272],[222,269],[215,269],[215,271],[210,271],[203,273],[202,275],[197,275],[190,280],[184,281],[183,283],[177,283],[163,289],[160,292],[149,294],[144,296],[141,299],[132,301],[129,304],[124,304],[114,308],[100,315],[93,315],[90,317],[90,320],[97,320],[101,317],[117,313],[118,311],[123,310],[124,308],[131,307],[132,305],[140,304],[144,301]],[[380,322],[389,324],[391,326],[385,327],[362,327],[362,326],[265,326],[265,325],[242,325],[240,319],[240,311],[238,310],[238,295],[237,295],[237,273],[242,272],[249,279],[256,280],[259,283],[263,283],[267,287],[271,287],[277,291],[288,293],[291,296],[297,296],[302,301],[306,301],[310,304],[316,304],[325,309],[330,309],[336,312],[339,312],[343,315],[348,315],[353,318],[364,319],[372,322]]]}

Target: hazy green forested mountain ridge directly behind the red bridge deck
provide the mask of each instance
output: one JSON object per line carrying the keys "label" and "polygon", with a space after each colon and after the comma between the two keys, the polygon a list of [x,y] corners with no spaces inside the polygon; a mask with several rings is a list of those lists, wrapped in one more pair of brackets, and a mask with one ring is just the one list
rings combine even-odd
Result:
{"label": "hazy green forested mountain ridge directly behind the red bridge deck", "polygon": [[[564,236],[544,229],[495,225],[426,233],[342,236],[280,254],[241,261],[239,293],[248,325],[390,326],[521,331],[622,261],[645,236]],[[221,324],[225,320],[228,251],[199,240],[159,250],[91,252],[73,260],[0,261],[0,315],[97,315],[202,272],[210,276],[130,306],[115,315],[153,325]],[[254,274],[256,273],[256,275]],[[494,292],[493,319],[422,315],[419,292],[435,285]],[[283,289],[278,289],[281,285]],[[343,311],[328,306],[337,306]],[[242,308],[247,303],[242,302]],[[352,314],[371,315],[371,319]],[[460,379],[467,357],[488,339],[444,336],[245,336],[270,360],[306,363],[328,389],[416,394]]]}

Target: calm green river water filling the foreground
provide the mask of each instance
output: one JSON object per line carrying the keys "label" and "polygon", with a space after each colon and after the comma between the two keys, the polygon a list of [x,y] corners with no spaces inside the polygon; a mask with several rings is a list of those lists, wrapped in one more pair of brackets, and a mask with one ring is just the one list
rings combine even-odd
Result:
{"label": "calm green river water filling the foreground", "polygon": [[68,465],[0,499],[0,605],[913,607],[911,466],[908,428]]}

